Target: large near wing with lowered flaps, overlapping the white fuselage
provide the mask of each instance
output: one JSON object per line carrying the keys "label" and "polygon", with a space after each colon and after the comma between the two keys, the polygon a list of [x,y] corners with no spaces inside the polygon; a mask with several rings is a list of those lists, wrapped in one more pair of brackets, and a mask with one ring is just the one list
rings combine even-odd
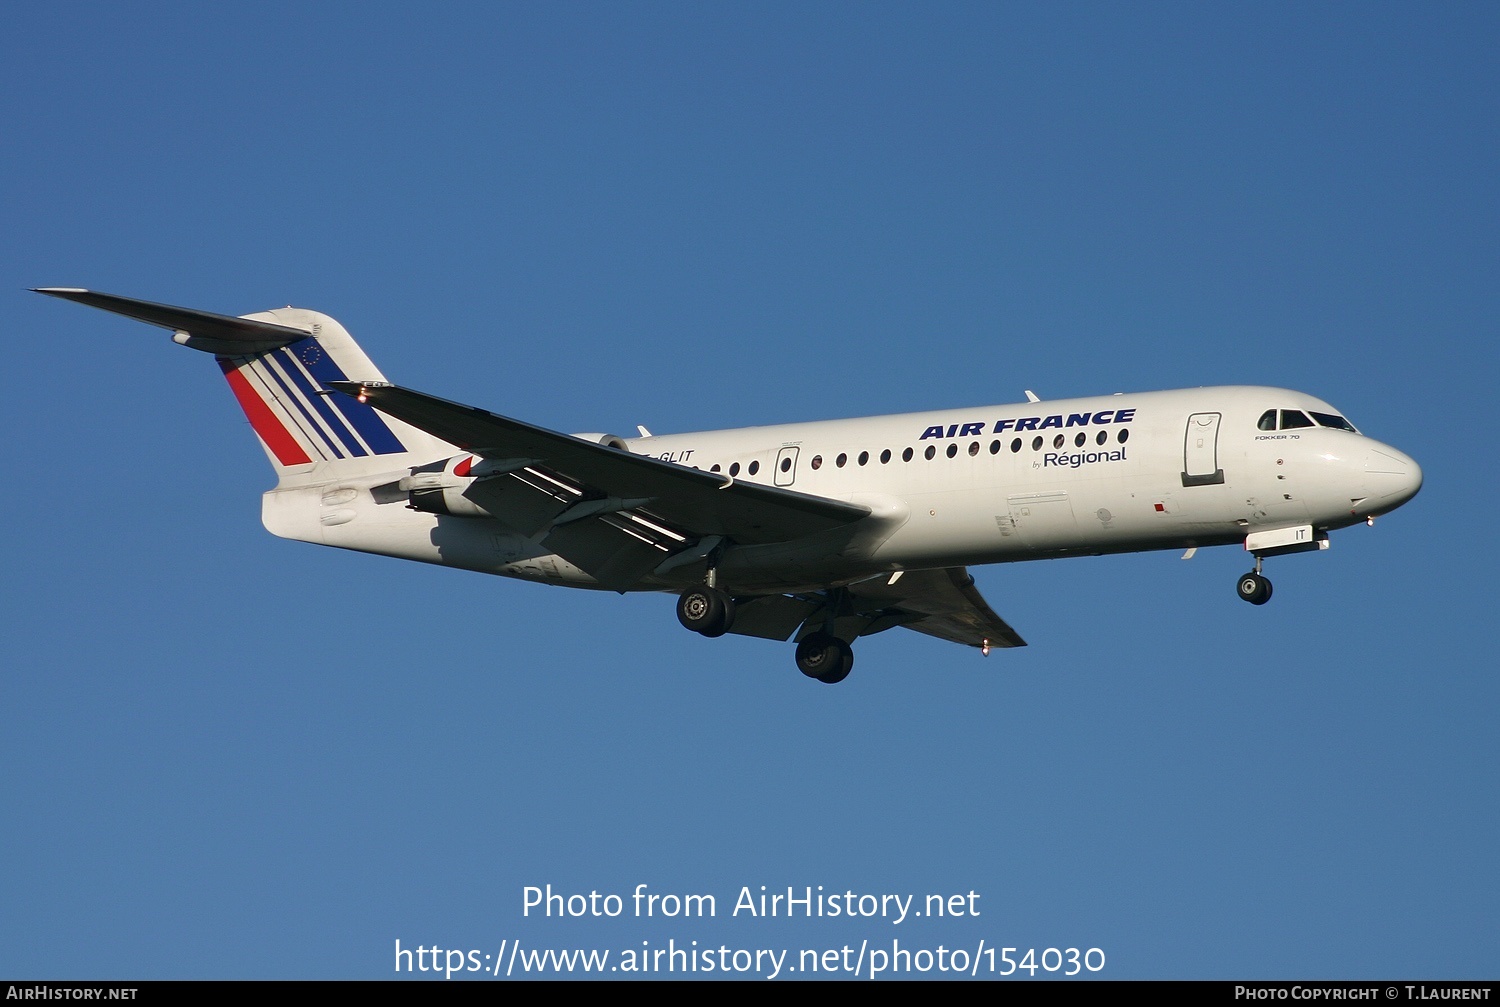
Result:
{"label": "large near wing with lowered flaps, overlapping the white fuselage", "polygon": [[826,497],[594,444],[393,384],[330,387],[483,459],[465,495],[614,590],[627,590],[676,554],[704,558],[714,537],[790,542],[852,525],[870,510]]}

